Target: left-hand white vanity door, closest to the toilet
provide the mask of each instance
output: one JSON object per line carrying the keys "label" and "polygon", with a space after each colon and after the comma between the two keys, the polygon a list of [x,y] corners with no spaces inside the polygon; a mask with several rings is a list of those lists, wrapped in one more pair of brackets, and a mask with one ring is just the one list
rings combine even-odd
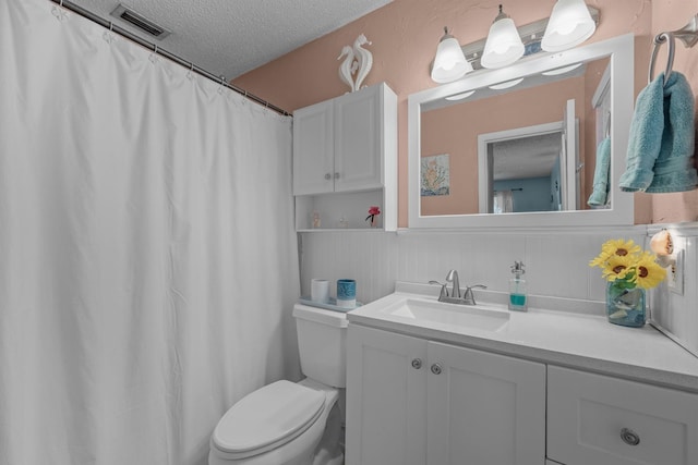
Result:
{"label": "left-hand white vanity door, closest to the toilet", "polygon": [[425,341],[349,325],[347,465],[426,464],[425,369]]}

